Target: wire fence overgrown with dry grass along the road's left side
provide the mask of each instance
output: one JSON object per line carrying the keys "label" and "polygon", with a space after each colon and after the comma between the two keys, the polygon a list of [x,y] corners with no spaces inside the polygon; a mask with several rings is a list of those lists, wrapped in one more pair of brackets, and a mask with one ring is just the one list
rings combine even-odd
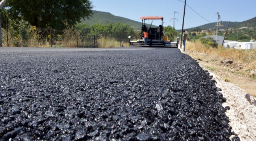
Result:
{"label": "wire fence overgrown with dry grass along the road's left side", "polygon": [[3,47],[127,47],[128,39],[106,36],[84,37],[80,31],[48,28],[8,27],[2,22]]}

